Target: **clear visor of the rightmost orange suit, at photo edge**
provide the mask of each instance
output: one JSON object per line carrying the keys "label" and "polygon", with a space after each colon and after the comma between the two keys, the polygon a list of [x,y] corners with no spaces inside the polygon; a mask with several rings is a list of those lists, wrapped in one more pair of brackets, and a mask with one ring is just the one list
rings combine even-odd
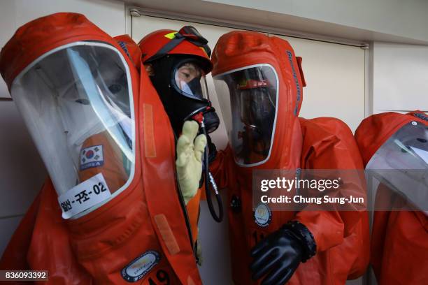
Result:
{"label": "clear visor of the rightmost orange suit, at photo edge", "polygon": [[402,126],[366,166],[369,175],[425,211],[428,210],[427,128],[421,122]]}

